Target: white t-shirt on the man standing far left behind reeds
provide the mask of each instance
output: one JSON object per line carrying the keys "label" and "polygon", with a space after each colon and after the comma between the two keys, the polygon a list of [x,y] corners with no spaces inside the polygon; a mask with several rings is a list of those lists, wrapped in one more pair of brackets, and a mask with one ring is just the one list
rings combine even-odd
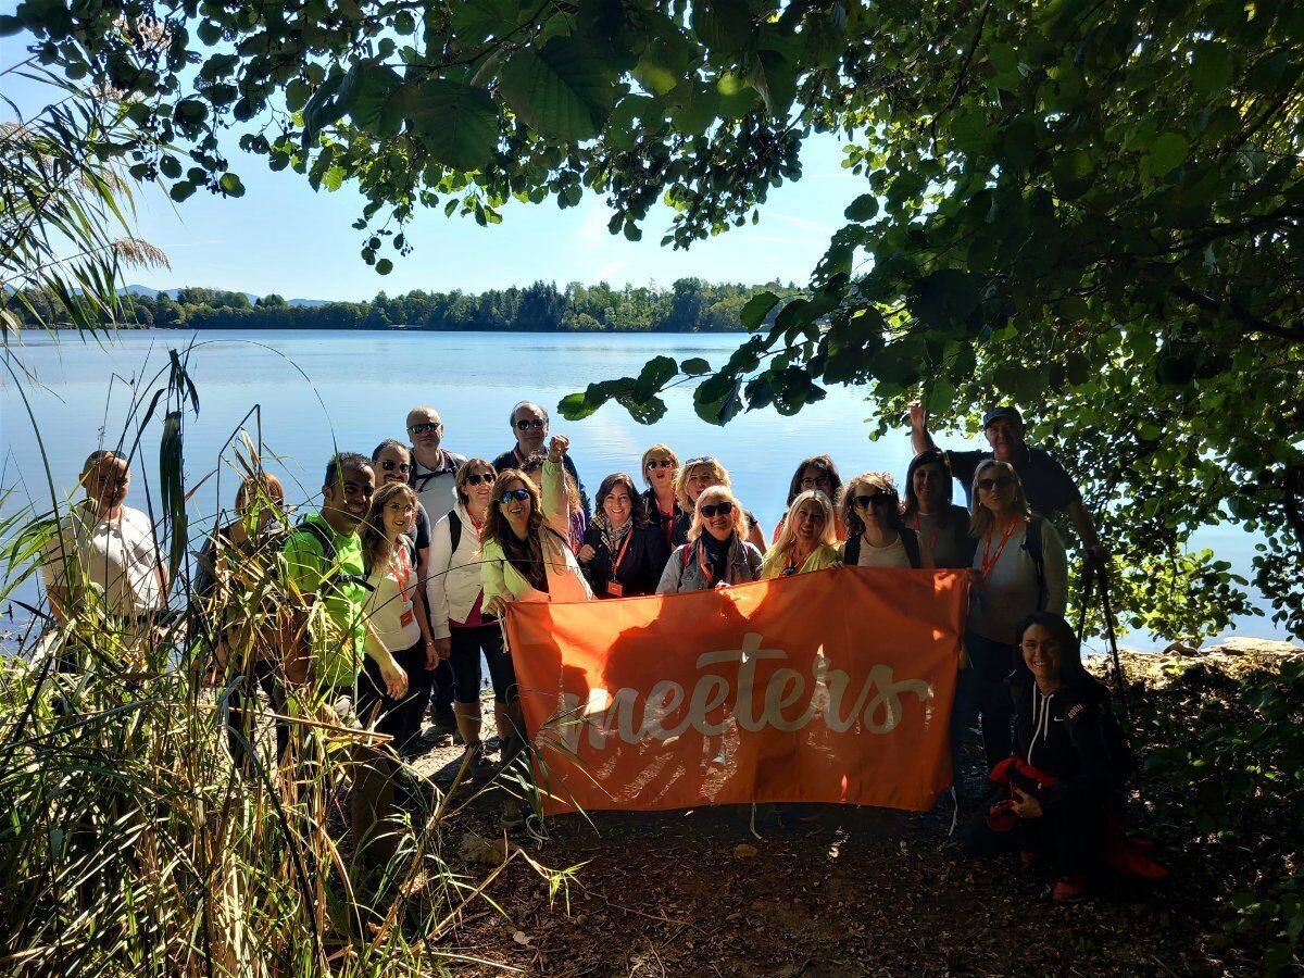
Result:
{"label": "white t-shirt on the man standing far left behind reeds", "polygon": [[63,588],[73,602],[86,584],[94,584],[103,588],[111,614],[145,614],[162,605],[159,557],[154,527],[143,512],[124,506],[121,519],[100,519],[83,501],[46,545],[42,576],[46,588]]}

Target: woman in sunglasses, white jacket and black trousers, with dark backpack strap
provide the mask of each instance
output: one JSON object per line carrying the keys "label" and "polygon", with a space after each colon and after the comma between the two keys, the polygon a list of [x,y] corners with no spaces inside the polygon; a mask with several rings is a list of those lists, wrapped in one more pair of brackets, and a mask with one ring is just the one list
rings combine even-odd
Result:
{"label": "woman in sunglasses, white jacket and black trousers, with dark backpack strap", "polygon": [[480,734],[481,653],[489,664],[499,745],[506,748],[515,730],[511,708],[516,702],[516,675],[502,647],[502,629],[482,613],[480,532],[489,516],[496,479],[493,464],[485,459],[469,459],[458,468],[454,477],[456,502],[452,511],[434,524],[425,589],[436,648],[441,656],[449,656],[452,665],[452,711],[458,733],[467,745],[472,777],[492,773]]}

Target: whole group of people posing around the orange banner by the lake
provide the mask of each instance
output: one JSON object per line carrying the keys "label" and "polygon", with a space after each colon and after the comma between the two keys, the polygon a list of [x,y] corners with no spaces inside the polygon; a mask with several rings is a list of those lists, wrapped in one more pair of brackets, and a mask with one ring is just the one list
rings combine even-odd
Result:
{"label": "whole group of people posing around the orange banner by the lake", "polygon": [[[449,451],[439,415],[413,408],[406,439],[386,439],[369,455],[335,454],[321,506],[292,526],[280,481],[250,476],[236,519],[200,553],[193,587],[206,647],[240,678],[232,750],[248,742],[244,703],[256,686],[278,703],[280,683],[309,683],[323,699],[349,694],[359,721],[400,752],[416,743],[429,704],[436,728],[464,742],[471,775],[485,776],[493,765],[481,657],[501,762],[527,741],[499,621],[514,601],[682,593],[838,563],[966,569],[973,587],[953,748],[958,756],[978,721],[990,771],[1009,758],[1024,765],[1001,816],[1035,822],[1035,831],[1003,835],[985,810],[983,831],[969,837],[978,849],[1001,840],[1048,849],[1063,872],[1056,896],[1072,898],[1098,850],[1082,840],[1103,832],[1118,788],[1102,772],[1118,765],[1101,733],[1110,729],[1108,696],[1082,670],[1063,619],[1067,557],[1050,518],[1068,516],[1099,558],[1094,524],[1063,467],[1026,445],[1017,409],[986,413],[986,452],[940,450],[918,406],[910,420],[915,455],[901,490],[887,472],[844,481],[829,456],[802,459],[768,540],[721,462],[681,460],[666,445],[643,452],[638,481],[626,472],[601,479],[591,502],[569,439],[550,434],[548,412],[532,402],[512,408],[514,445],[493,459]],[[956,480],[968,506],[953,499]],[[77,600],[67,572],[77,554],[117,619],[146,625],[166,604],[168,582],[149,519],[124,505],[128,462],[98,451],[81,481],[87,498],[47,550],[52,612],[61,617]],[[278,580],[280,601],[261,600],[259,588]],[[287,737],[278,729],[282,751]],[[376,756],[383,785],[391,762]],[[363,806],[355,802],[355,831],[383,818],[376,790],[355,795]]]}

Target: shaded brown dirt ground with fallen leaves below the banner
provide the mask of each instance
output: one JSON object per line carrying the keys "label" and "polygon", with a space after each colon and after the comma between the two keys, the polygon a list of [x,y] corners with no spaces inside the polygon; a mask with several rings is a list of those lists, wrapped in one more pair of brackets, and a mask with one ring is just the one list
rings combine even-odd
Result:
{"label": "shaded brown dirt ground with fallen leaves below the banner", "polygon": [[[446,767],[443,747],[422,767]],[[445,858],[467,880],[488,872],[460,833],[501,837],[499,795],[456,823]],[[578,866],[554,896],[523,859],[441,941],[459,974],[503,966],[548,975],[1222,974],[1257,965],[1226,948],[1198,866],[1163,853],[1172,876],[1118,885],[1072,906],[1052,880],[1012,859],[970,861],[940,808],[915,816],[828,806],[812,820],[745,808],[595,812],[552,819],[527,853]],[[479,962],[476,962],[479,961]],[[450,962],[451,964],[451,962]]]}

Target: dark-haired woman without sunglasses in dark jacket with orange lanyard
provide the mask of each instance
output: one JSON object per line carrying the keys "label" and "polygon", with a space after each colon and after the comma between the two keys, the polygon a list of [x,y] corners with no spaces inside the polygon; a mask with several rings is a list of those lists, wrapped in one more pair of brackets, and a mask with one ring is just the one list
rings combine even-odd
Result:
{"label": "dark-haired woman without sunglasses in dark jacket with orange lanyard", "polygon": [[648,523],[634,480],[614,472],[597,489],[597,510],[584,535],[579,562],[599,597],[656,592],[670,557],[661,527]]}

